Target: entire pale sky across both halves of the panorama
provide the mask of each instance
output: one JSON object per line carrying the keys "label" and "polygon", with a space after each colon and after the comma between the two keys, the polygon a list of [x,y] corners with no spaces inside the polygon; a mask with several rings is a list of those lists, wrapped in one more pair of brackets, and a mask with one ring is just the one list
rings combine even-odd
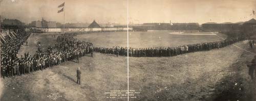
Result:
{"label": "entire pale sky across both halves of the panorama", "polygon": [[[13,2],[15,1],[15,2]],[[63,0],[0,0],[0,14],[23,22],[63,23],[58,5]],[[66,0],[66,22],[127,22],[126,0]],[[129,0],[129,21],[143,22],[238,22],[256,18],[256,0]],[[250,15],[252,14],[252,15]]]}

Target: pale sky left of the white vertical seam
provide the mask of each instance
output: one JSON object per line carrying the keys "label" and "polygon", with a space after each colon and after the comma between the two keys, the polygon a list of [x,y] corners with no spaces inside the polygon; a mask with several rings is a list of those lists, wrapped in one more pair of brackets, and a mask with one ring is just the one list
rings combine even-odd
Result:
{"label": "pale sky left of the white vertical seam", "polygon": [[[63,23],[63,12],[57,13],[63,0],[0,0],[0,14],[24,22],[33,20],[58,21]],[[14,0],[13,0],[14,1]],[[127,1],[120,0],[66,0],[66,22],[127,22]]]}

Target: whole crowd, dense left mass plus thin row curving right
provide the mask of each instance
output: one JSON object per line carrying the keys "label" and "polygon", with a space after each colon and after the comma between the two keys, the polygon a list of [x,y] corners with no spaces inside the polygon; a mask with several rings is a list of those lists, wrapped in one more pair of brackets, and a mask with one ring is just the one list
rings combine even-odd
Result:
{"label": "whole crowd, dense left mass plus thin row curving right", "polygon": [[237,37],[222,41],[190,44],[178,47],[130,47],[127,49],[127,47],[119,46],[112,48],[93,46],[90,42],[79,41],[74,38],[77,33],[69,33],[59,35],[55,46],[48,46],[45,52],[42,52],[41,44],[38,42],[36,54],[31,56],[29,53],[25,53],[24,57],[21,56],[18,58],[17,53],[20,46],[26,42],[31,33],[24,29],[18,29],[16,30],[16,33],[18,34],[15,38],[7,37],[6,42],[1,47],[1,77],[4,78],[46,69],[74,59],[79,63],[80,57],[86,56],[86,54],[91,54],[91,57],[93,57],[93,52],[114,54],[118,57],[119,55],[127,56],[127,50],[129,50],[129,57],[172,57],[186,53],[222,48],[235,42],[245,40],[245,37]]}

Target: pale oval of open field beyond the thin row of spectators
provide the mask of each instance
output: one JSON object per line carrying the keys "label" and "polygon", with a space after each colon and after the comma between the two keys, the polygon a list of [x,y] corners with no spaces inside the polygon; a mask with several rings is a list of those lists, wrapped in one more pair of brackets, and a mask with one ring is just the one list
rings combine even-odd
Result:
{"label": "pale oval of open field beyond the thin row of spectators", "polygon": [[[129,32],[130,47],[168,47],[201,42],[213,42],[222,40],[215,35],[171,35],[168,31],[158,32]],[[218,34],[226,38],[224,34]],[[96,46],[113,47],[127,46],[127,32],[104,32],[82,34],[76,37],[79,40],[93,42]]]}

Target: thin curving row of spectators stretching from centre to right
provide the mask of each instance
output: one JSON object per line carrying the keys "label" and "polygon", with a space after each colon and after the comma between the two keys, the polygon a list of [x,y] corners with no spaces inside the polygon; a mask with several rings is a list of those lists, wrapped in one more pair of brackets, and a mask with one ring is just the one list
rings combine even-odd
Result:
{"label": "thin curving row of spectators stretching from centre to right", "polygon": [[[129,48],[129,57],[172,57],[186,53],[222,48],[235,42],[243,41],[245,37],[225,39],[222,41],[189,44],[177,47],[148,47],[148,48]],[[94,47],[95,52],[103,54],[115,54],[117,56],[127,56],[127,47]]]}

